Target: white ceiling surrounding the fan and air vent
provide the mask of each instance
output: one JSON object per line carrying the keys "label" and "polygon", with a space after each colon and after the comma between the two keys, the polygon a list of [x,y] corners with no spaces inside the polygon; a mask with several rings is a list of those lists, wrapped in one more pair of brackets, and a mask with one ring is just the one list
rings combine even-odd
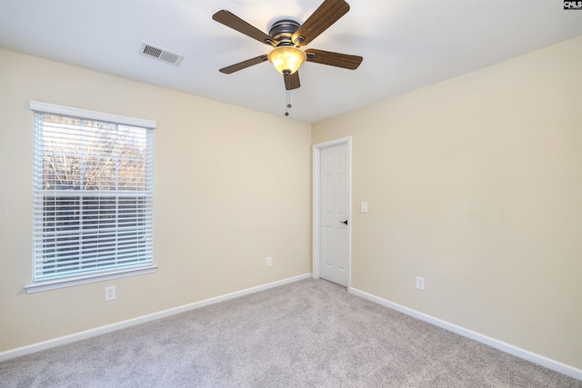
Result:
{"label": "white ceiling surrounding the fan and air vent", "polygon": [[[226,9],[268,34],[304,22],[323,0],[0,0],[0,45],[29,55],[283,115],[282,75],[268,63],[218,72],[262,45],[212,15]],[[354,71],[306,63],[290,118],[316,123],[582,35],[562,0],[347,0],[350,11],[305,48],[361,55]],[[139,55],[142,42],[185,55]]]}

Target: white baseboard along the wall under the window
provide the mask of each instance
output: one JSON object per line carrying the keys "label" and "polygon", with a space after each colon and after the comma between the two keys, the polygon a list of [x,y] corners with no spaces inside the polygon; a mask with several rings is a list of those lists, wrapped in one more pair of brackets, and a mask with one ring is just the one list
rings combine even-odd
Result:
{"label": "white baseboard along the wall under the window", "polygon": [[235,299],[241,296],[248,295],[250,293],[258,293],[259,291],[268,290],[269,288],[275,288],[280,285],[290,284],[298,282],[303,279],[309,279],[312,274],[301,274],[295,277],[290,277],[277,282],[258,285],[256,287],[247,288],[246,290],[236,291],[235,293],[226,293],[225,295],[216,296],[215,298],[206,299],[204,301],[189,303],[182,306],[174,307],[168,310],[164,310],[158,313],[150,313],[147,315],[138,316],[136,318],[128,319],[126,321],[111,323],[105,326],[96,327],[95,329],[86,330],[85,332],[74,333],[70,335],[65,335],[63,337],[48,340],[42,343],[33,343],[31,345],[23,346],[20,348],[11,349],[0,353],[0,362],[10,360],[12,358],[21,357],[26,354],[36,353],[43,351],[45,349],[50,349],[56,346],[64,345],[66,343],[74,343],[76,341],[85,340],[86,338],[95,337],[96,335],[101,335],[105,333],[115,332],[115,330],[125,329],[125,327],[135,326],[136,324],[146,323],[150,321],[155,321],[156,319],[166,318],[167,316],[174,315],[176,313],[184,313],[189,310],[194,310],[200,307],[207,306],[209,304],[220,303],[227,301],[229,299]]}

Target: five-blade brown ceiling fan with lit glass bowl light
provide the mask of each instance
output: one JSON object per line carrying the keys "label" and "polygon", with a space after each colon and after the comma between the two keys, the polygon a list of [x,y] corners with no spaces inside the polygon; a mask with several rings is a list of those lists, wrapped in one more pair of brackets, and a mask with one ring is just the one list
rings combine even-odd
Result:
{"label": "five-blade brown ceiling fan with lit glass bowl light", "polygon": [[212,16],[216,22],[222,23],[241,34],[250,36],[263,44],[273,46],[268,55],[259,55],[238,64],[224,67],[219,71],[229,75],[246,69],[246,67],[262,64],[268,60],[283,75],[285,88],[288,91],[301,86],[297,70],[304,62],[355,70],[364,59],[361,56],[332,53],[313,48],[303,51],[299,48],[311,43],[318,35],[336,23],[340,17],[346,15],[347,11],[349,11],[349,5],[346,1],[325,0],[307,18],[303,25],[300,25],[295,20],[278,20],[271,26],[269,35],[226,10],[218,11]]}

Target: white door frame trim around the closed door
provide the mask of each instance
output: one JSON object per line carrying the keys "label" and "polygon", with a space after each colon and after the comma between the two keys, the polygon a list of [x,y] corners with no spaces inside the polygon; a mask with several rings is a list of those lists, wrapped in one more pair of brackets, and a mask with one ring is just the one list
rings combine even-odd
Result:
{"label": "white door frame trim around the closed door", "polygon": [[313,145],[313,193],[312,193],[312,258],[313,258],[313,278],[320,277],[321,258],[319,257],[321,247],[321,150],[336,145],[347,145],[347,179],[349,180],[349,187],[347,193],[347,214],[349,223],[347,224],[347,289],[352,285],[352,136],[340,137],[338,139],[329,140],[324,143]]}

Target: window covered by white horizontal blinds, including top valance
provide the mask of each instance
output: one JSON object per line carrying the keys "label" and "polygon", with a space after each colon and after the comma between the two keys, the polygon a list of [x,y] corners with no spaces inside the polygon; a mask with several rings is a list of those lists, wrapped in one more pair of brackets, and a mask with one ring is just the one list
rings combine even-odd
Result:
{"label": "window covered by white horizontal blinds, including top valance", "polygon": [[27,292],[155,271],[155,122],[31,101],[33,284]]}

